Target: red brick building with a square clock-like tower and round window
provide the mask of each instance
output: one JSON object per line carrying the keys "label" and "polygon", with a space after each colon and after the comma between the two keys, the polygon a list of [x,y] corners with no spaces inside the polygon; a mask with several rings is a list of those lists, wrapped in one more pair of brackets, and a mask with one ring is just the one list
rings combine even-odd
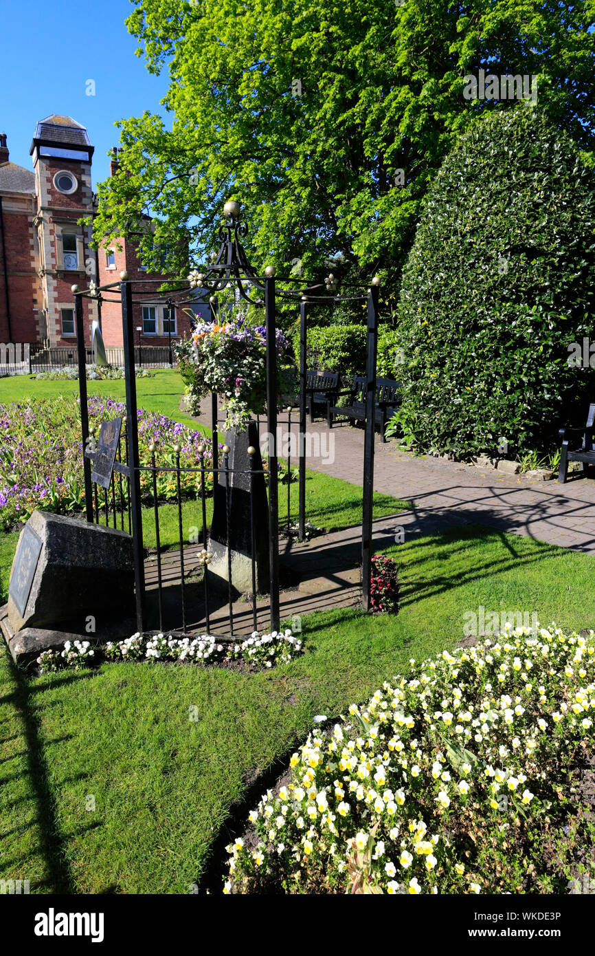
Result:
{"label": "red brick building with a square clock-like tower and round window", "polygon": [[[94,147],[84,126],[71,117],[46,117],[36,124],[30,152],[32,171],[10,162],[6,134],[0,135],[0,342],[72,347],[73,285],[83,289],[91,280],[105,285],[117,281],[123,270],[131,279],[166,276],[142,268],[133,242],[120,239],[112,250],[92,249],[92,228],[78,225],[79,219],[96,211],[91,180]],[[116,171],[115,156],[111,175]],[[151,302],[157,286],[134,286],[135,296],[148,296],[143,304],[135,304],[136,345],[167,344],[169,313],[158,298]],[[122,344],[117,303],[103,302],[99,314],[97,302],[84,298],[83,308],[86,344],[91,343],[95,318],[106,346]],[[189,316],[174,310],[172,337],[189,329]]]}

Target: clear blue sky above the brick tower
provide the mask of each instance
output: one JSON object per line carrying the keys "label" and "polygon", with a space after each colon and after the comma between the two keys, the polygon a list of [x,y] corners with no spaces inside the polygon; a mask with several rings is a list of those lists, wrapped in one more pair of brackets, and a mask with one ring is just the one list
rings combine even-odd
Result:
{"label": "clear blue sky above the brick tower", "polygon": [[[95,185],[109,175],[106,153],[119,139],[115,121],[146,109],[164,115],[159,99],[167,70],[151,76],[134,55],[138,41],[124,25],[133,9],[129,0],[4,0],[0,132],[8,136],[12,163],[32,169],[36,121],[65,114],[89,130]],[[95,97],[86,95],[88,79],[96,82]]]}

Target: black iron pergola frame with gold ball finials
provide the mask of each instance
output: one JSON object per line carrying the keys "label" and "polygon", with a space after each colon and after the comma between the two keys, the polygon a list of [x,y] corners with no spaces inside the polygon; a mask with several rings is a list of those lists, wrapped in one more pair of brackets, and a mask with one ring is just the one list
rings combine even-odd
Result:
{"label": "black iron pergola frame with gold ball finials", "polygon": [[[118,470],[129,480],[130,507],[132,516],[132,536],[135,562],[135,583],[137,601],[138,630],[143,630],[144,564],[142,540],[142,516],[140,510],[139,455],[138,455],[138,416],[137,385],[135,378],[134,322],[133,303],[153,303],[162,301],[170,310],[169,327],[171,329],[171,310],[176,306],[192,305],[196,298],[195,290],[207,289],[211,319],[214,321],[219,312],[217,293],[233,289],[250,305],[265,309],[266,326],[266,422],[269,435],[268,454],[268,521],[269,521],[269,562],[270,562],[270,622],[271,629],[280,626],[279,608],[279,494],[277,475],[277,364],[276,364],[276,299],[293,301],[300,306],[300,406],[299,406],[299,526],[298,536],[306,536],[306,335],[309,303],[330,303],[349,300],[367,301],[368,337],[367,337],[367,392],[366,392],[366,432],[364,442],[364,473],[362,503],[362,582],[363,605],[371,608],[371,571],[372,571],[372,497],[373,497],[373,461],[374,461],[374,401],[376,392],[376,351],[378,331],[378,295],[380,280],[372,278],[366,295],[341,295],[336,293],[337,282],[332,274],[324,282],[315,281],[300,288],[283,288],[281,284],[292,286],[295,276],[276,276],[273,266],[266,266],[264,275],[254,271],[250,265],[242,240],[247,227],[240,218],[240,205],[229,201],[223,206],[226,222],[219,229],[220,249],[213,255],[213,261],[204,272],[193,270],[187,279],[168,280],[172,286],[166,292],[137,293],[134,286],[147,286],[150,283],[163,285],[163,279],[142,278],[131,280],[128,272],[120,272],[119,280],[104,286],[91,283],[86,290],[73,286],[76,318],[76,346],[78,359],[78,382],[80,394],[80,415],[83,448],[89,440],[89,415],[87,408],[87,380],[85,374],[85,342],[83,322],[83,298],[95,298],[101,301],[121,302],[122,337],[124,351],[125,394],[126,394],[126,440],[128,449],[127,465],[118,464]],[[176,288],[179,287],[179,288]],[[119,296],[111,293],[119,291]],[[106,294],[107,293],[107,294]],[[217,396],[211,401],[213,448],[218,447],[218,411]],[[272,438],[272,445],[270,441]],[[83,459],[86,515],[93,521],[93,489],[91,462]]]}

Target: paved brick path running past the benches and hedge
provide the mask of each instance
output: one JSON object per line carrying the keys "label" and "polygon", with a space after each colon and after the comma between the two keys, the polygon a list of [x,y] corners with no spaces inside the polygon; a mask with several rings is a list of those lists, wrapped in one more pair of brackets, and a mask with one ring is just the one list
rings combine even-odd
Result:
{"label": "paved brick path running past the benches and hedge", "polygon": [[[287,420],[287,414],[281,418]],[[210,424],[206,402],[199,421]],[[292,414],[291,432],[297,436],[294,422]],[[288,430],[287,424],[284,429]],[[261,432],[266,432],[265,425]],[[312,436],[310,450],[317,452],[308,455],[308,467],[362,484],[363,428],[338,424],[329,432],[325,422],[317,421],[308,422],[308,433]],[[329,441],[334,446],[329,446]],[[329,451],[334,452],[330,457]],[[374,489],[411,503],[408,511],[399,514],[406,535],[436,533],[454,524],[477,521],[499,531],[595,554],[592,479],[571,478],[566,485],[529,482],[494,469],[414,457],[392,442],[383,445],[376,436]]]}

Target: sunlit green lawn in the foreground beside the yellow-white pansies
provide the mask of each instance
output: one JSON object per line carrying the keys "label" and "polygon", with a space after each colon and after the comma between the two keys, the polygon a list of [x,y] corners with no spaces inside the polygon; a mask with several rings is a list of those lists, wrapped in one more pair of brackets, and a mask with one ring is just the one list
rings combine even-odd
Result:
{"label": "sunlit green lawn in the foreground beside the yellow-white pansies", "polygon": [[[5,541],[5,571],[10,550]],[[32,892],[185,893],[230,807],[282,768],[313,715],[336,717],[411,657],[455,646],[465,612],[483,604],[595,627],[588,555],[469,526],[391,554],[398,616],[303,619],[308,653],[266,673],[104,664],[28,680],[3,650],[0,877],[30,880]]]}

